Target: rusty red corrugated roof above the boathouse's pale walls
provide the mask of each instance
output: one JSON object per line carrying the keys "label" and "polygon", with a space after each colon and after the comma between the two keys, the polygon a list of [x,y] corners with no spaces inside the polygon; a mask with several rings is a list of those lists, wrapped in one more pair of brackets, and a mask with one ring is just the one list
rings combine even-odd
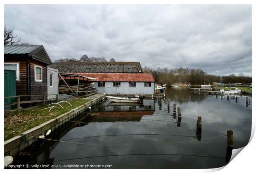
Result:
{"label": "rusty red corrugated roof above the boathouse's pale walls", "polygon": [[94,82],[155,82],[151,73],[73,73],[89,76]]}

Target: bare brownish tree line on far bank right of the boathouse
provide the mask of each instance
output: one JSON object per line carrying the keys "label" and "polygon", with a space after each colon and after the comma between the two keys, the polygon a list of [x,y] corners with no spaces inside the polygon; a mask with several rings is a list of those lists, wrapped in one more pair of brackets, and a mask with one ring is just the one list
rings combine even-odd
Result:
{"label": "bare brownish tree line on far bank right of the boathouse", "polygon": [[[216,84],[220,82],[221,76],[207,74],[201,69],[190,69],[190,68],[157,68],[153,70],[145,66],[143,72],[151,73],[158,84],[167,84],[167,85],[196,85],[204,84],[204,75],[205,75],[205,84]],[[238,76],[231,74],[228,76],[222,76],[222,82],[225,84],[229,83],[243,83],[250,84],[251,77],[244,76],[243,73],[240,73]]]}

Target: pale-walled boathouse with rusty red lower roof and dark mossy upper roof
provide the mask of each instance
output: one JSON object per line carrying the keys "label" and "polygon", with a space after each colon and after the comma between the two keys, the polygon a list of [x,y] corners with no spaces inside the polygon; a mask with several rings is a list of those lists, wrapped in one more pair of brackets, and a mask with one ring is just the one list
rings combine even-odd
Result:
{"label": "pale-walled boathouse with rusty red lower roof and dark mossy upper roof", "polygon": [[140,62],[72,62],[52,63],[62,73],[88,76],[91,86],[98,93],[106,94],[154,94],[155,80],[152,74],[143,73]]}

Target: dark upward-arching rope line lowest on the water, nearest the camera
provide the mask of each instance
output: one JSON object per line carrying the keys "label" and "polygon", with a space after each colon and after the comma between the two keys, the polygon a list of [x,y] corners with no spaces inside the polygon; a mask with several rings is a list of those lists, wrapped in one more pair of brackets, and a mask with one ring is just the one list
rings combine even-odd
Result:
{"label": "dark upward-arching rope line lowest on the water, nearest the camera", "polygon": [[79,157],[73,159],[63,159],[63,160],[55,160],[57,161],[67,161],[67,160],[76,160],[76,159],[88,159],[88,158],[97,158],[97,157],[115,157],[115,156],[155,156],[155,155],[164,155],[164,156],[193,156],[193,157],[208,157],[208,158],[216,158],[216,159],[226,159],[225,157],[213,157],[213,156],[202,156],[202,155],[192,155],[192,154],[118,154],[118,155],[104,155],[104,156],[90,156],[90,157]]}

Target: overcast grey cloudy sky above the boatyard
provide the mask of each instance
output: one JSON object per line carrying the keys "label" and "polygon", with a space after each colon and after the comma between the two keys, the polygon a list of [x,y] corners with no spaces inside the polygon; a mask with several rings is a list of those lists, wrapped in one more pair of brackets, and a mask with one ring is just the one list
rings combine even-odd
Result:
{"label": "overcast grey cloudy sky above the boatyard", "polygon": [[5,5],[21,42],[59,58],[251,76],[251,5]]}

